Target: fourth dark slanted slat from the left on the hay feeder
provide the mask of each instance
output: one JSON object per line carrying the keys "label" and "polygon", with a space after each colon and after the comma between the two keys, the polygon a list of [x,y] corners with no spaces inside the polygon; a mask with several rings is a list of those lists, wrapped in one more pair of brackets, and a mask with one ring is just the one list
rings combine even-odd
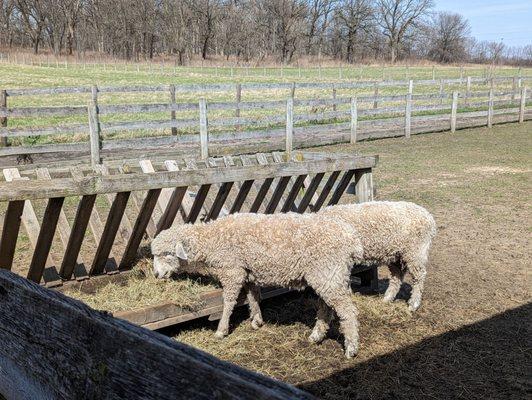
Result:
{"label": "fourth dark slanted slat from the left on the hay feeder", "polygon": [[126,211],[126,205],[130,193],[131,192],[117,193],[113,200],[105,227],[103,228],[100,243],[96,249],[96,254],[89,271],[90,275],[101,274],[107,264],[107,259],[111,252],[116,234],[118,233],[118,228],[120,227],[120,221]]}

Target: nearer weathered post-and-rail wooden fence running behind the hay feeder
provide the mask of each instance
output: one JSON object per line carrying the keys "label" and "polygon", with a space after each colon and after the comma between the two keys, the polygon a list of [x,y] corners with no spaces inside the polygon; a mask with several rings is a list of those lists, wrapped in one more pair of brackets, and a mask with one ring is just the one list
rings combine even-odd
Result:
{"label": "nearer weathered post-and-rail wooden fence running behind the hay feeder", "polygon": [[[409,90],[412,90],[409,84]],[[100,105],[99,89],[93,87],[92,100],[87,107],[25,107],[0,108],[0,117],[29,117],[50,115],[84,115],[88,113],[88,124],[69,124],[53,127],[0,128],[0,137],[7,139],[25,138],[38,135],[65,135],[88,133],[89,144],[64,143],[31,146],[10,146],[0,148],[0,164],[3,166],[34,163],[43,154],[66,153],[70,158],[90,156],[93,165],[100,164],[104,158],[112,158],[120,152],[121,158],[127,158],[123,152],[138,152],[149,149],[181,148],[183,152],[193,152],[202,158],[225,153],[228,149],[234,153],[252,151],[272,151],[284,149],[290,153],[293,148],[314,146],[326,143],[353,142],[368,138],[393,137],[435,130],[456,129],[456,120],[460,116],[460,127],[478,126],[482,112],[486,116],[486,124],[512,120],[524,121],[526,117],[527,91],[521,87],[517,91],[489,90],[479,92],[434,93],[358,96],[356,113],[353,113],[352,97],[335,97],[328,99],[293,99],[290,115],[287,113],[286,101],[240,101],[240,102],[207,102],[200,99],[197,103],[159,103],[132,105]],[[444,101],[445,100],[445,101]],[[435,101],[435,102],[434,102]],[[381,104],[374,108],[375,103]],[[382,106],[383,103],[386,106]],[[429,102],[429,104],[427,104]],[[371,104],[374,104],[373,107]],[[394,105],[393,103],[397,104]],[[421,103],[421,104],[418,104]],[[391,105],[390,105],[391,104]],[[308,110],[303,108],[310,107]],[[339,107],[339,108],[336,108]],[[464,109],[466,107],[466,109]],[[284,109],[284,111],[283,111]],[[477,111],[485,109],[486,111]],[[223,110],[238,110],[235,117],[218,115]],[[255,117],[240,116],[243,110],[264,110],[266,114]],[[176,112],[192,112],[178,118]],[[153,113],[163,112],[166,120],[137,120],[113,122],[106,116],[116,113]],[[481,114],[479,114],[479,112]],[[62,114],[64,113],[64,114]],[[420,114],[421,113],[421,114]],[[427,113],[432,115],[427,115]],[[449,124],[445,125],[445,114]],[[497,117],[497,118],[495,118]],[[502,118],[502,120],[501,120]],[[401,119],[403,122],[401,123]],[[433,124],[434,121],[440,121]],[[287,125],[290,124],[290,126]],[[481,123],[480,123],[481,124]],[[198,133],[176,134],[177,129],[184,132],[199,127]],[[253,129],[250,129],[253,128]],[[111,139],[113,132],[156,131],[171,129],[172,135],[149,136],[131,139]],[[344,134],[343,132],[346,132]],[[350,132],[347,134],[347,132]],[[357,132],[353,135],[353,132]],[[139,133],[144,135],[144,133]],[[146,153],[147,154],[147,153]],[[7,158],[6,158],[7,157]],[[11,158],[9,158],[11,157]],[[16,159],[13,159],[16,157]],[[50,156],[51,157],[51,156]],[[34,158],[36,158],[34,160]],[[132,158],[135,158],[132,155]],[[53,159],[53,158],[52,158]],[[28,161],[29,160],[29,161]]]}

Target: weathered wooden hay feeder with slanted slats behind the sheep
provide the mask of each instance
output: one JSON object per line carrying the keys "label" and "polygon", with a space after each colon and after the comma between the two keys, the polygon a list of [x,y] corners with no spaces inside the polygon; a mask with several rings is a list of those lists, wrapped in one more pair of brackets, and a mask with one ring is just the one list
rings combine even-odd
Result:
{"label": "weathered wooden hay feeder with slanted slats behind the sheep", "polygon": [[[139,248],[173,224],[235,212],[315,212],[338,203],[346,191],[359,202],[373,198],[375,156],[295,152],[290,160],[285,157],[142,160],[139,165],[37,169],[22,175],[5,169],[0,268],[58,290],[90,292],[108,282],[125,282]],[[29,246],[17,248],[21,223]],[[363,283],[375,286],[375,269],[360,272]],[[283,292],[264,288],[262,298]],[[202,302],[204,307],[194,312],[166,303],[116,315],[150,329],[216,318],[221,291],[205,293]]]}

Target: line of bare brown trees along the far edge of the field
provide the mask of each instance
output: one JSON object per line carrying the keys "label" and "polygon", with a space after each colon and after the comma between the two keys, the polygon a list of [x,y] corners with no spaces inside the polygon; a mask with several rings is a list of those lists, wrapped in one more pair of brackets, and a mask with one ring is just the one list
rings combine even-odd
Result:
{"label": "line of bare brown trees along the far edge of the field", "polygon": [[0,0],[0,46],[127,60],[301,57],[532,63],[532,45],[470,37],[432,0]]}

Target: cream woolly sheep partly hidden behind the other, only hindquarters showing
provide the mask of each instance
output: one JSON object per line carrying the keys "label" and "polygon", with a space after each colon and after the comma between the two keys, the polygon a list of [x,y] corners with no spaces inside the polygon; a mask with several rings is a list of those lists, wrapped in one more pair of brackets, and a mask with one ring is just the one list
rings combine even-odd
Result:
{"label": "cream woolly sheep partly hidden behind the other, only hindquarters showing", "polygon": [[372,201],[330,206],[319,214],[355,228],[364,249],[362,264],[388,266],[391,278],[384,301],[395,300],[409,272],[413,278],[409,309],[421,306],[429,248],[436,235],[436,222],[426,209],[405,201]]}

